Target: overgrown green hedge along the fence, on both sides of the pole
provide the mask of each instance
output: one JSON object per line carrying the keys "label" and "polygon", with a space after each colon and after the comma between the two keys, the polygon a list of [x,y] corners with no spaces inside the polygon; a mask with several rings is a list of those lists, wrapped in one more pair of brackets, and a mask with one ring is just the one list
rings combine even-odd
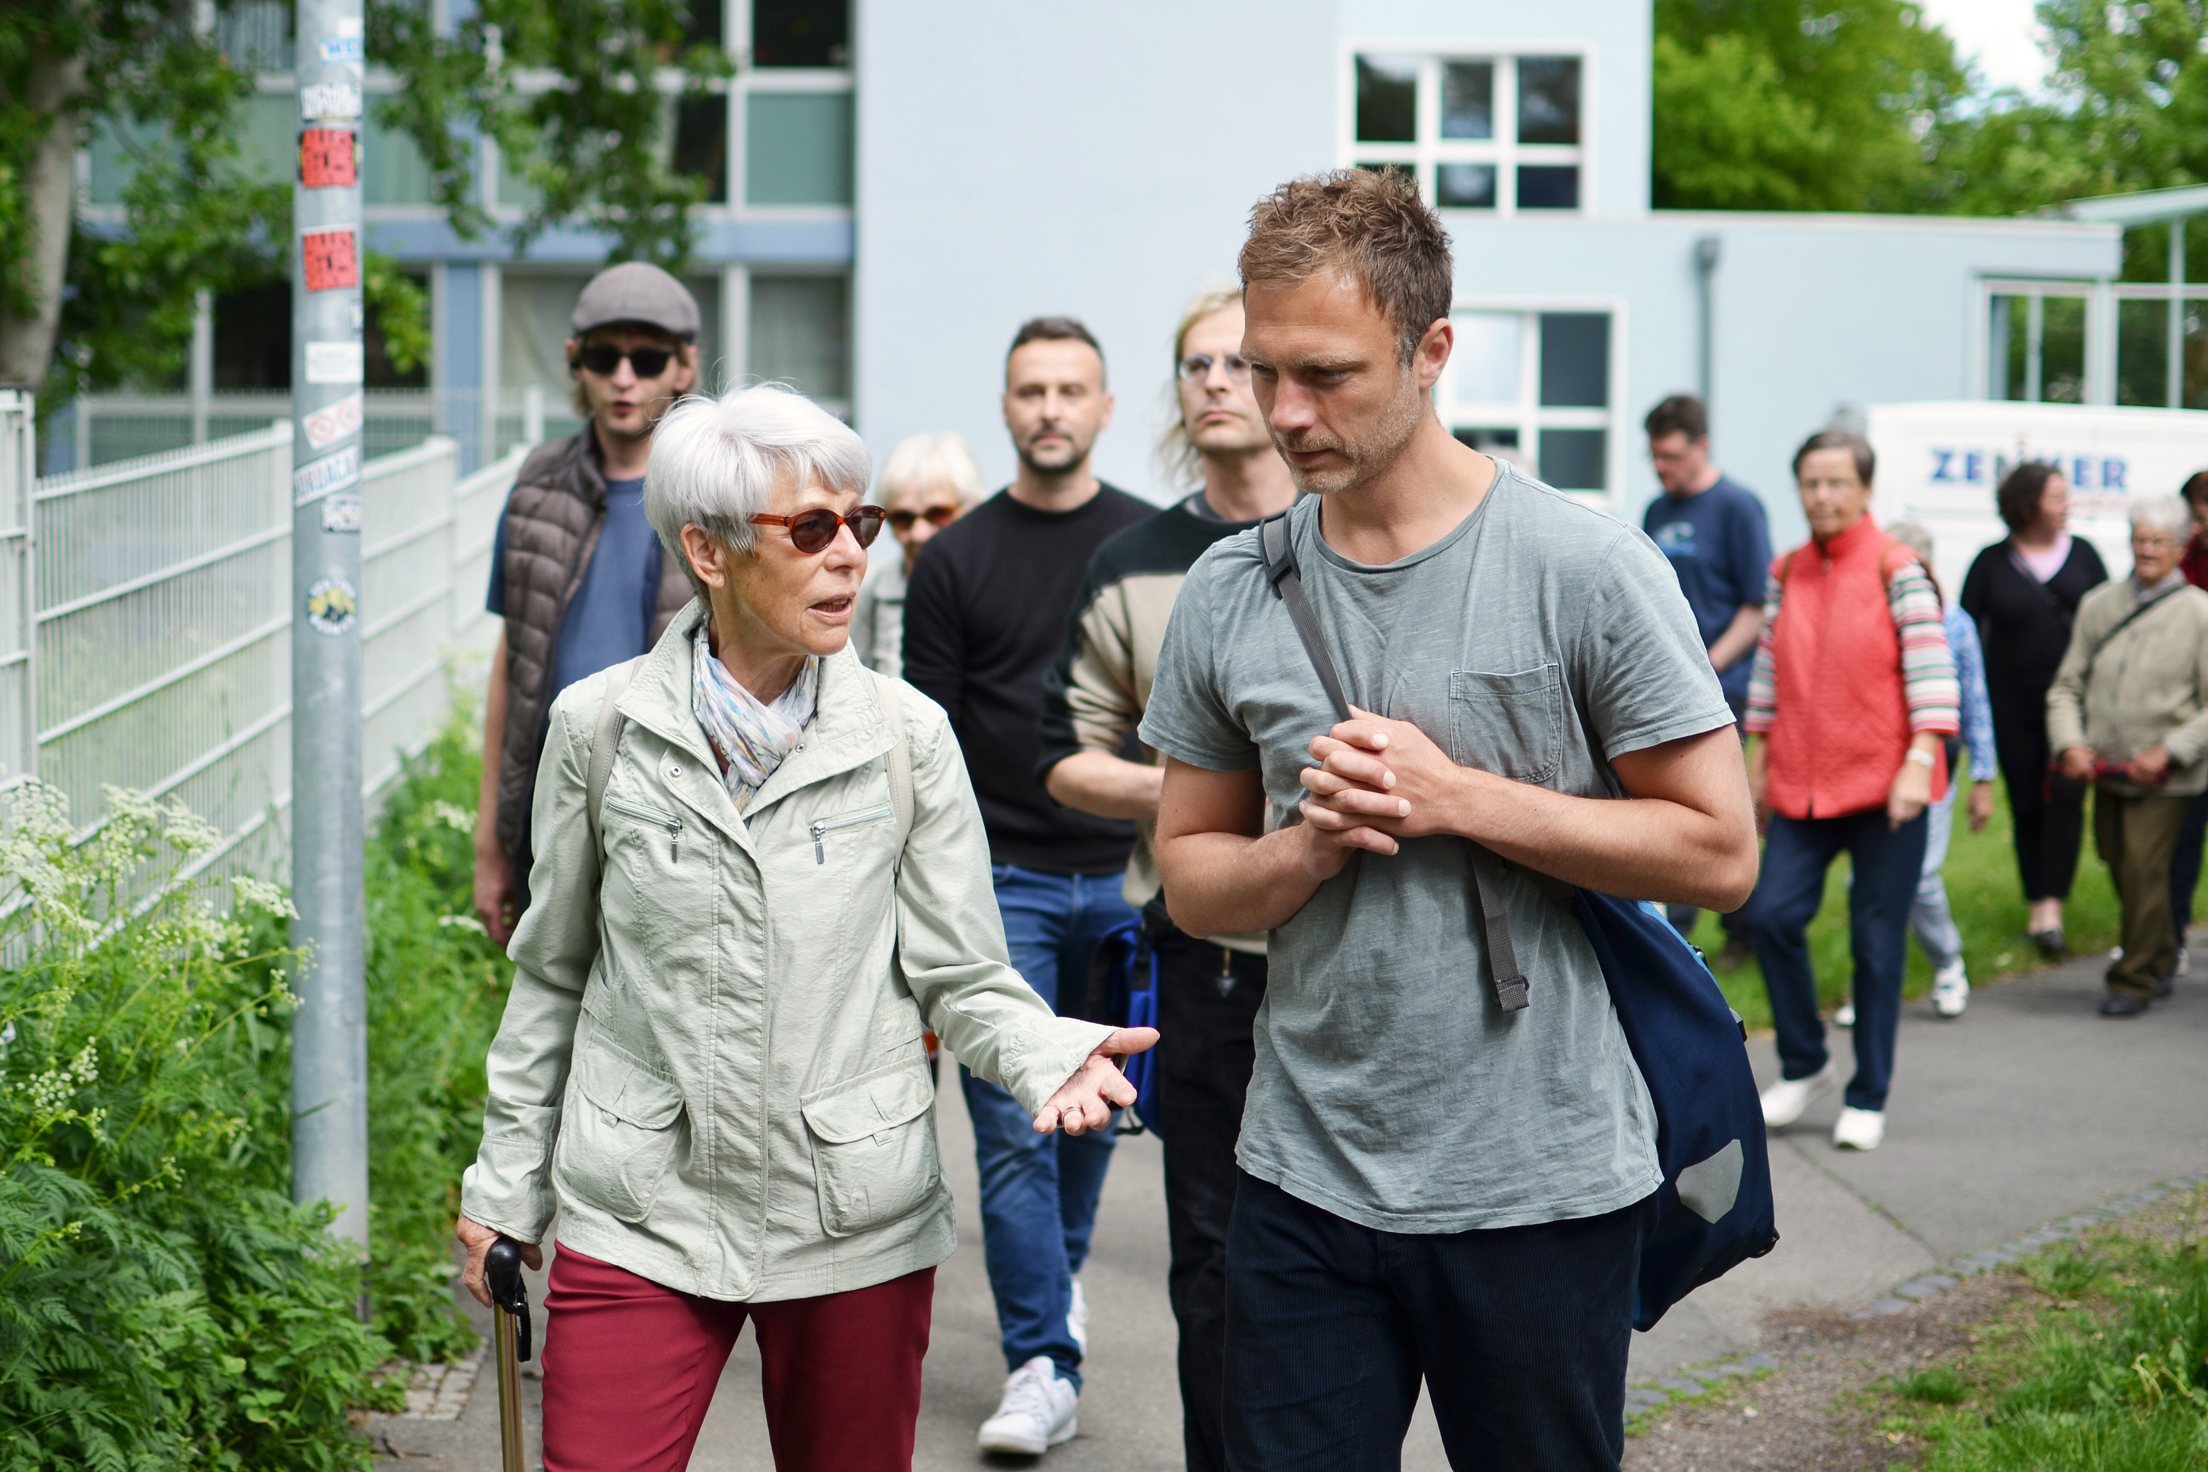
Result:
{"label": "overgrown green hedge along the fence, on both sides of the pole", "polygon": [[194,878],[135,911],[205,823],[108,792],[77,845],[57,792],[9,799],[0,1472],[367,1468],[353,1412],[402,1404],[378,1368],[473,1344],[448,1242],[506,998],[468,918],[475,772],[455,719],[369,841],[373,1329],[327,1212],[289,1201],[283,892]]}

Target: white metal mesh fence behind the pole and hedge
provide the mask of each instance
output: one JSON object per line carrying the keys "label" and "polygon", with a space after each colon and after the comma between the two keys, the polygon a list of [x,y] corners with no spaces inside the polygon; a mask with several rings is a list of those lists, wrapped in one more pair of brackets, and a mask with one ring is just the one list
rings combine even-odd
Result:
{"label": "white metal mesh fence behind the pole and hedge", "polygon": [[[265,419],[261,422],[265,424]],[[459,474],[428,437],[362,472],[364,788],[444,719],[481,611],[514,450]],[[216,823],[205,863],[280,874],[291,799],[291,426],[31,479],[31,404],[0,391],[0,764],[97,821],[102,788]]]}

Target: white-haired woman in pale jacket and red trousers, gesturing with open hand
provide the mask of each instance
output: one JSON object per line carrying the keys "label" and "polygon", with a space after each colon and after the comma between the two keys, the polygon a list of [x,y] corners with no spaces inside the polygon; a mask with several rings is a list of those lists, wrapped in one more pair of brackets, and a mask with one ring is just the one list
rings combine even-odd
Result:
{"label": "white-haired woman in pale jacket and red trousers, gesturing with open hand", "polygon": [[848,649],[866,486],[795,393],[678,404],[645,512],[698,598],[552,706],[459,1218],[486,1302],[488,1247],[559,1223],[545,1472],[687,1465],[746,1320],[777,1468],[910,1468],[956,1242],[923,1028],[1069,1134],[1157,1039],[1007,964],[949,722]]}

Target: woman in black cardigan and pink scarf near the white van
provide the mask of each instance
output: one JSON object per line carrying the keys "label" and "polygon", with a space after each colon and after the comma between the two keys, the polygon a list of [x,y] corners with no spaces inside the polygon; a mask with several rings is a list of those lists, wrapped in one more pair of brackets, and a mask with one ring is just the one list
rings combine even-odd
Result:
{"label": "woman in black cardigan and pink scarf near the white van", "polygon": [[2084,786],[2049,768],[2047,686],[2069,649],[2078,600],[2106,583],[2109,569],[2091,543],[2064,530],[2069,481],[2053,466],[2018,466],[1994,497],[2009,536],[1970,565],[1963,611],[1985,644],[1994,755],[2009,786],[2016,867],[2031,903],[2027,929],[2042,951],[2060,956],[2062,900],[2084,836]]}

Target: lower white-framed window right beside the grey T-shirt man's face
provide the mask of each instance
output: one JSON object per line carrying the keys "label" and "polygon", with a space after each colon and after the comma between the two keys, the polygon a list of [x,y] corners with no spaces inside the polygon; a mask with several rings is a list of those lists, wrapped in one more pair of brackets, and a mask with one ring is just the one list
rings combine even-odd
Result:
{"label": "lower white-framed window right beside the grey T-shirt man's face", "polygon": [[1614,318],[1607,307],[1459,307],[1457,346],[1437,384],[1444,422],[1557,490],[1610,494]]}

